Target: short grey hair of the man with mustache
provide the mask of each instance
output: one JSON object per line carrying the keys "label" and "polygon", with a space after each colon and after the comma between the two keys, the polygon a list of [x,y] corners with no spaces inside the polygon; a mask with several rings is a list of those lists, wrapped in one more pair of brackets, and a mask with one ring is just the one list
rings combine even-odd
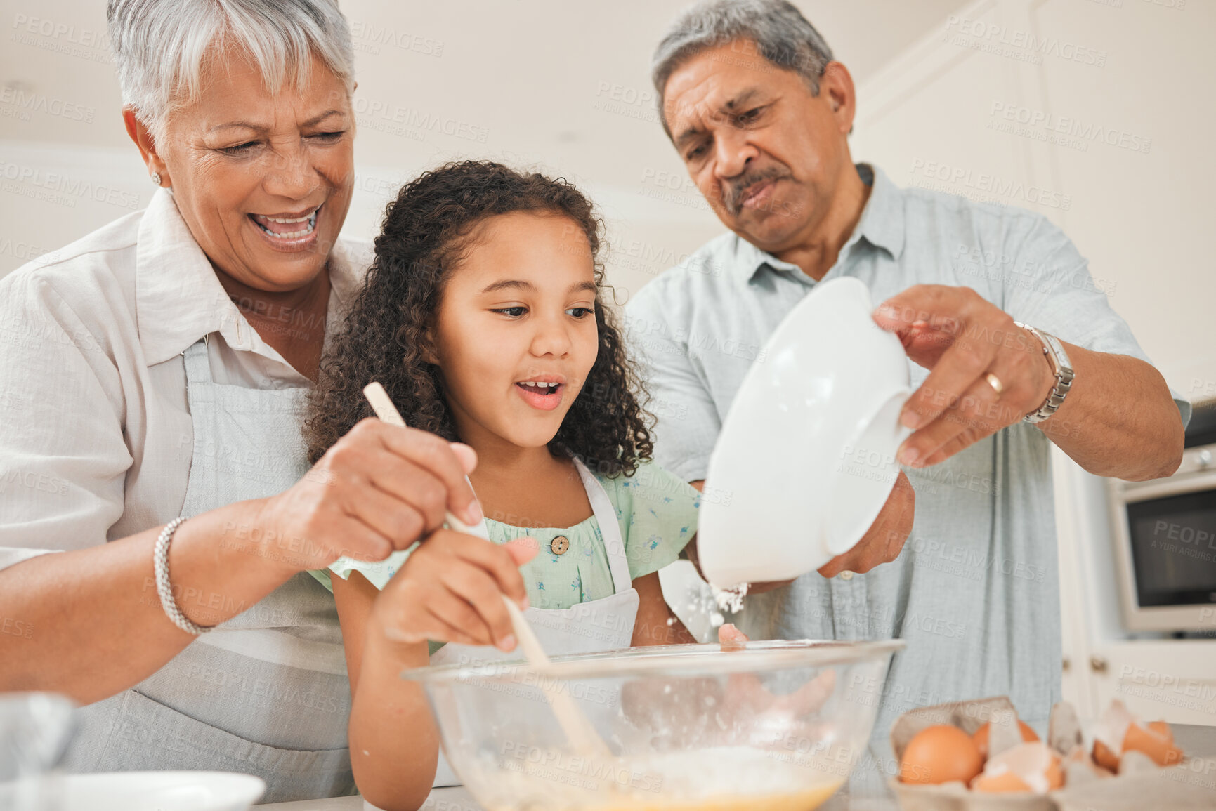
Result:
{"label": "short grey hair of the man with mustache", "polygon": [[[705,49],[751,40],[760,56],[798,73],[820,94],[820,77],[832,61],[832,49],[793,4],[786,0],[704,0],[683,11],[654,49],[651,79],[659,94],[683,62]],[[666,123],[664,122],[664,126]]]}

